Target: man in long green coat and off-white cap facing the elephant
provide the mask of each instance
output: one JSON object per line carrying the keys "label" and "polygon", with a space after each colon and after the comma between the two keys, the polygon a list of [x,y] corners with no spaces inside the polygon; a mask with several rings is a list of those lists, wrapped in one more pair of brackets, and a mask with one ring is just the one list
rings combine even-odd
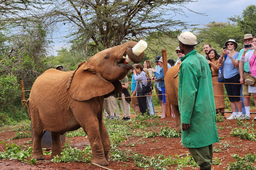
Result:
{"label": "man in long green coat and off-white cap facing the elephant", "polygon": [[196,36],[183,32],[178,36],[181,53],[179,73],[179,109],[182,145],[200,169],[211,169],[212,143],[219,142],[216,113],[209,64],[194,49]]}

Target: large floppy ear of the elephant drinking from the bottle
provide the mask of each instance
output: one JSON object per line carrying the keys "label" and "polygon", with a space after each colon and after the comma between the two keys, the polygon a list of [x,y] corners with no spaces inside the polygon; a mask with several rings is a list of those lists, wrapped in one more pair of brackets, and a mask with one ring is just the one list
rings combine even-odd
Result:
{"label": "large floppy ear of the elephant drinking from the bottle", "polygon": [[85,70],[86,64],[86,62],[79,64],[69,77],[67,91],[71,98],[84,101],[110,94],[115,90],[113,84],[103,79],[95,70]]}

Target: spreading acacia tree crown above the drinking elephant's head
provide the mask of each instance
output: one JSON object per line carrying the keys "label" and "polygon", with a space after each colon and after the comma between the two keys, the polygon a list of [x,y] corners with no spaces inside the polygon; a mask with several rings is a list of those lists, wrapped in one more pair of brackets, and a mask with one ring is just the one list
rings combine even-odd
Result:
{"label": "spreading acacia tree crown above the drinking elephant's head", "polygon": [[[146,37],[161,31],[173,36],[171,30],[187,28],[188,24],[173,20],[184,15],[182,8],[193,0],[58,0],[51,1],[46,15],[58,23],[70,24],[70,42],[84,47],[108,48],[123,41]],[[176,35],[177,36],[177,35]]]}

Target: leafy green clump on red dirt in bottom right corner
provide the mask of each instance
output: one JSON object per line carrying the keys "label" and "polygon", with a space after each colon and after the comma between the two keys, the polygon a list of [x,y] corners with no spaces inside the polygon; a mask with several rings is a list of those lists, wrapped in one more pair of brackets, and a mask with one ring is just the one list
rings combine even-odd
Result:
{"label": "leafy green clump on red dirt in bottom right corner", "polygon": [[233,155],[236,162],[229,163],[228,166],[230,170],[253,170],[256,169],[252,164],[256,161],[256,155],[246,154],[243,158],[239,157],[237,154]]}

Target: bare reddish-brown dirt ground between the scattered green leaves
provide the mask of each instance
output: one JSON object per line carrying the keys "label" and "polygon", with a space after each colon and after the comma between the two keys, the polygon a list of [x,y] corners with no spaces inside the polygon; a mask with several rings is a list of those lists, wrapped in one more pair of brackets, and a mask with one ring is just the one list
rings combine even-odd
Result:
{"label": "bare reddish-brown dirt ground between the scattered green leaves", "polygon": [[[251,111],[253,112],[253,111]],[[255,112],[255,111],[254,111]],[[161,114],[161,113],[158,113]],[[225,113],[225,117],[228,117],[230,114]],[[251,115],[251,120],[247,121],[252,123],[253,118],[256,116],[256,114]],[[134,118],[134,115],[133,115]],[[159,119],[159,122],[166,123],[167,126],[170,128],[174,128],[175,126],[175,120],[174,118],[161,118]],[[213,165],[212,169],[218,170],[218,169],[228,169],[227,164],[233,162],[233,157],[231,155],[238,154],[240,157],[244,157],[247,153],[250,154],[256,154],[256,141],[251,140],[245,140],[245,139],[239,139],[238,137],[233,137],[230,135],[231,130],[234,128],[237,128],[237,123],[235,120],[225,120],[224,122],[217,123],[218,127],[218,133],[219,137],[222,137],[220,139],[219,143],[214,143],[213,147],[216,149],[219,149],[220,151],[214,152],[213,157],[219,158],[219,161],[221,162],[221,165]],[[222,127],[222,128],[220,128]],[[159,130],[161,129],[161,126],[157,127]],[[207,128],[207,127],[205,127]],[[241,128],[239,126],[238,128]],[[243,127],[242,127],[243,129]],[[6,143],[8,142],[14,142],[17,145],[24,145],[23,143],[26,143],[27,141],[31,140],[31,138],[23,138],[23,139],[17,139],[12,141],[7,141],[10,138],[13,138],[15,135],[15,131],[6,131],[0,134],[0,141],[5,140]],[[68,140],[69,138],[66,138]],[[84,137],[73,137],[70,138],[72,140],[71,147],[77,147],[78,149],[83,149],[86,145],[88,145],[89,140]],[[133,143],[138,141],[139,137],[130,137],[129,142]],[[154,141],[153,141],[154,139]],[[143,141],[146,142],[143,143]],[[131,149],[135,152],[139,152],[140,154],[144,154],[145,156],[155,156],[157,154],[162,154],[165,156],[173,156],[174,155],[183,155],[188,154],[188,149],[183,147],[181,145],[181,138],[165,138],[165,137],[155,137],[155,138],[143,138],[143,141],[140,140],[136,143],[134,147],[127,146],[124,147],[124,145],[127,145],[127,141],[122,142],[121,145],[119,145],[119,148],[122,150],[125,149]],[[3,145],[0,144],[0,149],[3,151]],[[31,146],[27,145],[26,146]],[[86,164],[86,163],[51,163],[49,162],[51,160],[51,157],[49,155],[46,155],[46,160],[42,162],[38,162],[35,165],[22,163],[20,160],[0,160],[0,169],[19,169],[19,170],[27,170],[27,169],[103,169],[98,166]],[[255,163],[253,164],[254,166]],[[175,169],[177,165],[172,165],[169,168]],[[145,169],[145,168],[139,168],[136,167],[135,163],[133,163],[131,160],[129,162],[111,162],[109,161],[109,166],[107,166],[109,169]],[[151,168],[148,168],[151,169]],[[185,167],[182,168],[184,170],[191,169],[191,167]],[[199,168],[195,168],[199,169]]]}

